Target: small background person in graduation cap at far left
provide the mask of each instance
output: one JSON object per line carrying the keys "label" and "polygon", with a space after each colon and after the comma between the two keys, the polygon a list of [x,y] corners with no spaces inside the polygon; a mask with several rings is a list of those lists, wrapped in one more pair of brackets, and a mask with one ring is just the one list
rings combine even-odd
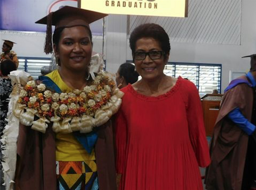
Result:
{"label": "small background person in graduation cap at far left", "polygon": [[0,62],[2,62],[4,60],[11,60],[16,64],[16,68],[18,68],[19,61],[17,58],[17,54],[14,51],[11,51],[14,43],[15,42],[12,42],[10,40],[4,40],[4,43],[2,46],[3,53],[0,55]]}

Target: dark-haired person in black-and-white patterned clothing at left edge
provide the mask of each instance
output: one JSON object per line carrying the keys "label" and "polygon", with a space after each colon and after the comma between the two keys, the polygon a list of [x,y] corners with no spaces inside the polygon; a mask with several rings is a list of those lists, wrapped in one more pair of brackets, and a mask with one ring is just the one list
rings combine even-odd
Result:
{"label": "dark-haired person in black-and-white patterned clothing at left edge", "polygon": [[16,70],[16,65],[11,60],[5,60],[0,64],[0,135],[7,124],[5,120],[8,112],[9,95],[12,91],[11,79],[8,77],[11,71]]}

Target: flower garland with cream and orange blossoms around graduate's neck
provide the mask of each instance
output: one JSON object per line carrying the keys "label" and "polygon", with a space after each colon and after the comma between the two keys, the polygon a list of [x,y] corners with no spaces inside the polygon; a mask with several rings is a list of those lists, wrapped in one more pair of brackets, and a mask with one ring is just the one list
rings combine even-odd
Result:
{"label": "flower garland with cream and orange blossoms around graduate's neck", "polygon": [[[45,133],[47,123],[53,122],[54,132],[91,132],[93,127],[106,123],[121,105],[123,92],[113,79],[100,72],[91,85],[83,90],[56,93],[42,83],[30,80],[20,87],[14,115],[20,123]],[[39,117],[34,121],[34,116]]]}

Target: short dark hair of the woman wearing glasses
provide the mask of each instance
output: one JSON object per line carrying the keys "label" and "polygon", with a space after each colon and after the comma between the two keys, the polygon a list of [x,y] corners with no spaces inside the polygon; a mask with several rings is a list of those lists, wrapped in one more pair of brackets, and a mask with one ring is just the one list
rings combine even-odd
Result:
{"label": "short dark hair of the woman wearing glasses", "polygon": [[151,37],[157,40],[160,43],[162,50],[164,51],[164,58],[166,58],[166,55],[170,53],[170,40],[164,28],[158,24],[148,23],[139,25],[130,35],[130,48],[132,49],[133,55],[135,52],[137,40],[143,37]]}

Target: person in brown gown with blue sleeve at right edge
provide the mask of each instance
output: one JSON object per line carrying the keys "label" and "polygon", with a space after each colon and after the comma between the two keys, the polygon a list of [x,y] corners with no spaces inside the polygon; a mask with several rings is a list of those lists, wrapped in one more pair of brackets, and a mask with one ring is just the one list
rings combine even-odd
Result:
{"label": "person in brown gown with blue sleeve at right edge", "polygon": [[210,145],[206,189],[256,188],[256,54],[245,57],[251,58],[250,71],[224,90]]}

